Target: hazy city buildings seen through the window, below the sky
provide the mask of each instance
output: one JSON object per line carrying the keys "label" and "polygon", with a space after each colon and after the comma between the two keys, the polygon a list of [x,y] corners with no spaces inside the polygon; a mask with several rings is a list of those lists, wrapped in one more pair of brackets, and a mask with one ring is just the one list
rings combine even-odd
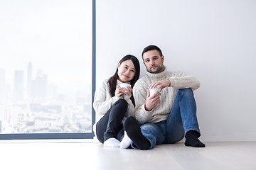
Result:
{"label": "hazy city buildings seen through the window, below the sky", "polygon": [[14,70],[10,85],[0,69],[0,133],[90,132],[91,92],[60,94],[43,70],[33,70],[31,62],[26,70]]}

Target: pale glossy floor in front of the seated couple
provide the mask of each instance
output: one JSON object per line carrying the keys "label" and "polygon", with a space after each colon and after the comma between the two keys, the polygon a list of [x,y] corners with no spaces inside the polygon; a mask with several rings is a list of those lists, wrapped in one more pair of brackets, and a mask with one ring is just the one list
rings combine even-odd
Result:
{"label": "pale glossy floor in front of the seated couple", "polygon": [[0,141],[0,169],[256,169],[256,142],[159,145],[141,151],[95,142]]}

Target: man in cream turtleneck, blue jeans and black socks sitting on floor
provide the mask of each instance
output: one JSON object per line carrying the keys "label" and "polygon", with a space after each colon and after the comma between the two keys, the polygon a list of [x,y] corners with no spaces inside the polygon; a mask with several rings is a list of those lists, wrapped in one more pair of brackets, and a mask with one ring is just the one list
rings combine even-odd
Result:
{"label": "man in cream turtleneck, blue jeans and black socks sitting on floor", "polygon": [[[205,147],[198,140],[200,130],[196,118],[193,91],[200,84],[185,72],[169,72],[159,47],[149,45],[142,52],[146,75],[134,85],[135,118],[124,121],[124,140],[130,138],[132,147],[152,149],[163,143],[176,143],[186,137],[186,146]],[[149,89],[161,89],[150,94]],[[126,145],[128,147],[128,145]],[[124,148],[124,147],[122,147]]]}

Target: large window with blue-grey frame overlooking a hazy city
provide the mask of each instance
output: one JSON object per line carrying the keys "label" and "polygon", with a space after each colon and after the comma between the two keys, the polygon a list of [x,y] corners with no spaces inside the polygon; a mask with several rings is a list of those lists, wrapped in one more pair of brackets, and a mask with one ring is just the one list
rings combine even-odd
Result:
{"label": "large window with blue-grey frame overlooking a hazy city", "polygon": [[0,25],[0,139],[92,138],[95,0],[3,0]]}

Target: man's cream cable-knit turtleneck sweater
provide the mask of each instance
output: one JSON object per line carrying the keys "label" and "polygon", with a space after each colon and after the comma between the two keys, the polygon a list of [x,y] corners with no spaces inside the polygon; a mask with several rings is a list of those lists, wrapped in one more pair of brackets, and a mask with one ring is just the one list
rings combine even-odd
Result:
{"label": "man's cream cable-knit turtleneck sweater", "polygon": [[[169,79],[171,86],[162,89],[159,103],[151,111],[146,111],[144,104],[149,84],[163,79]],[[146,75],[139,79],[133,88],[136,104],[135,118],[139,123],[157,123],[166,120],[174,106],[177,90],[191,88],[194,91],[199,86],[199,81],[195,77],[188,76],[186,72],[168,72],[166,67],[164,67],[164,72],[159,74],[146,72]]]}

